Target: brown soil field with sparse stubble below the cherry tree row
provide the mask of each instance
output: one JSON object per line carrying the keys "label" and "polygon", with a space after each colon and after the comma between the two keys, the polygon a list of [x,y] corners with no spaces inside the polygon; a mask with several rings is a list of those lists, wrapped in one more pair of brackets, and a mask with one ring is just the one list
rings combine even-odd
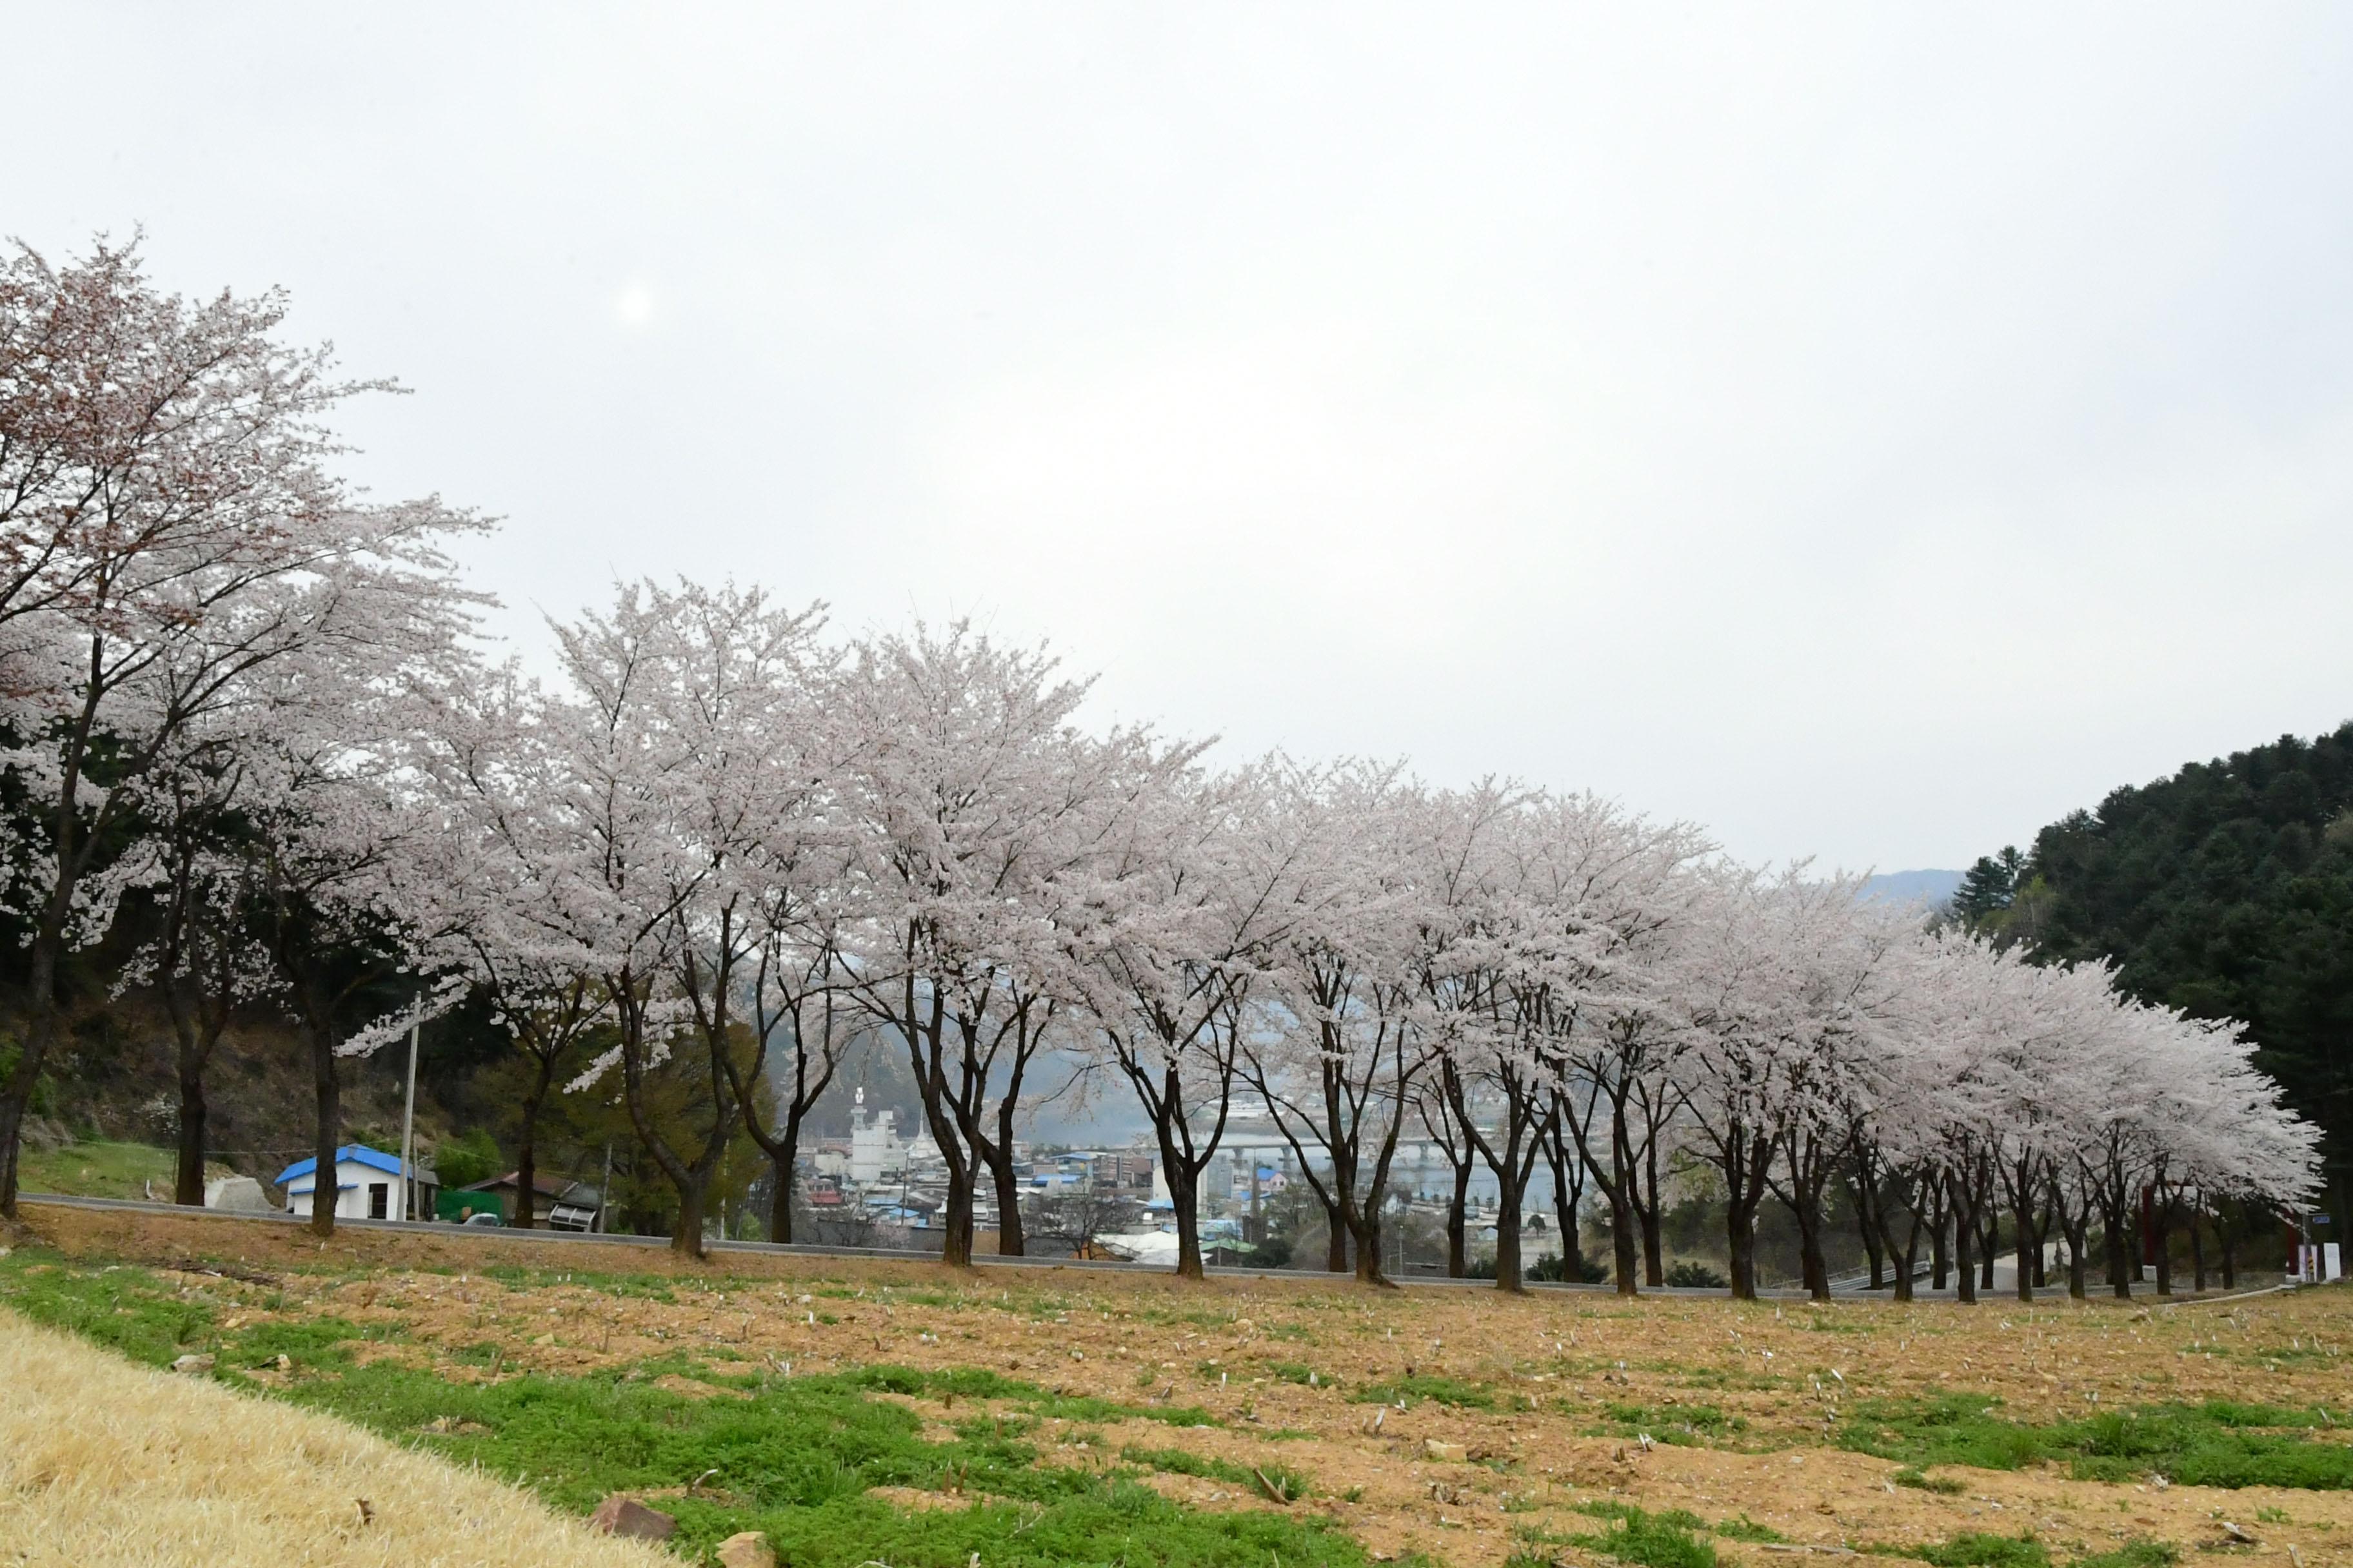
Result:
{"label": "brown soil field with sparse stubble below the cherry tree row", "polygon": [[[986,1366],[1129,1406],[1202,1406],[1226,1425],[1047,1422],[1038,1441],[1056,1462],[1080,1465],[1113,1465],[1129,1446],[1280,1465],[1313,1481],[1294,1507],[1332,1514],[1384,1556],[1421,1549],[1442,1563],[1501,1563],[1529,1530],[1598,1530],[1574,1505],[1619,1497],[1708,1521],[1746,1514],[1793,1544],[1831,1552],[2031,1530],[2061,1563],[2132,1537],[2280,1563],[2294,1549],[2306,1568],[2353,1563],[2346,1493],[2115,1486],[2045,1467],[1941,1472],[1965,1493],[1939,1495],[1899,1488],[1894,1465],[1831,1446],[1854,1399],[1937,1392],[2000,1396],[2019,1420],[2212,1396],[2322,1406],[2353,1422],[2353,1375],[2337,1354],[2353,1342],[2353,1291],[2341,1288],[2172,1302],[2061,1295],[2031,1307],[1624,1302],[1369,1291],[1313,1274],[1181,1284],[1052,1265],[958,1274],[744,1253],[694,1262],[515,1234],[344,1232],[322,1248],[292,1227],[195,1215],[28,1206],[26,1218],[71,1253],[155,1265],[205,1258],[271,1274],[282,1281],[280,1312],[398,1326],[398,1340],[367,1349],[452,1378],[586,1373],[680,1354],[774,1375],[889,1361]],[[529,1274],[485,1279],[485,1267]],[[235,1293],[249,1316],[278,1300],[261,1284],[198,1279]],[[496,1347],[494,1363],[478,1363],[480,1345]],[[1457,1380],[1492,1408],[1362,1401],[1367,1385],[1400,1378]],[[678,1373],[664,1387],[673,1380],[708,1392]],[[941,1432],[962,1408],[908,1403]],[[1699,1418],[1694,1432],[1682,1429],[1682,1410]],[[1640,1434],[1666,1441],[1645,1446]],[[1464,1458],[1431,1458],[1433,1441],[1459,1443]],[[1162,1474],[1153,1483],[1200,1507],[1278,1507],[1231,1481]],[[2257,1544],[2235,1544],[2224,1521]],[[1591,1556],[1541,1549],[1560,1561]],[[1732,1563],[1791,1556],[1744,1542],[1718,1549]]]}

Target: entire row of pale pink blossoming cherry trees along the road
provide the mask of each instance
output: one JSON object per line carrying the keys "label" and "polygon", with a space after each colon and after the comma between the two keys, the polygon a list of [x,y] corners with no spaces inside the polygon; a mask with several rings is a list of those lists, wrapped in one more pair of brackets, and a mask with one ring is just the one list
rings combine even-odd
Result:
{"label": "entire row of pale pink blossoming cherry trees along the road", "polygon": [[[2235,1027],[1609,802],[1217,769],[1080,726],[1087,686],[1042,651],[965,625],[840,642],[760,590],[628,585],[551,628],[546,679],[489,663],[445,555],[480,522],[332,475],[322,418],[369,388],[280,348],[282,308],[162,296],[104,247],[0,275],[0,778],[28,976],[0,1208],[59,971],[127,900],[122,983],[174,1027],[181,1201],[238,1009],[308,1041],[325,1164],[339,1063],[461,990],[532,1063],[525,1128],[551,1093],[628,1105],[682,1251],[746,1133],[791,1237],[802,1126],[861,1030],[904,1051],[946,1154],[951,1262],[984,1192],[1021,1251],[1014,1135],[1073,1063],[1151,1121],[1188,1274],[1242,1095],[1367,1279],[1405,1140],[1449,1152],[1457,1215],[1494,1173],[1506,1288],[1537,1161],[1565,1237],[1586,1192],[1607,1211],[1624,1291],[1659,1281],[1661,1180],[1687,1161],[1720,1175],[1739,1293],[1767,1199],[1828,1288],[1840,1182],[1899,1293],[1946,1227],[1967,1293],[1995,1208],[2021,1253],[2064,1237],[2080,1291],[2089,1229],[2113,1262],[2144,1192],[2179,1215],[2311,1182],[2311,1128]],[[656,1084],[687,1086],[664,1117]],[[529,1194],[529,1133],[520,1164]]]}

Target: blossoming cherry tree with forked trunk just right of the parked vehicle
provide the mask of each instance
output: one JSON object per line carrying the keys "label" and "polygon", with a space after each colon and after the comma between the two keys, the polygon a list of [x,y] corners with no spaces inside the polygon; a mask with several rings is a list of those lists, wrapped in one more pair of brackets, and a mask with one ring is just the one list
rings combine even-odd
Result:
{"label": "blossoming cherry tree with forked trunk just right of the parked vehicle", "polygon": [[[527,773],[544,813],[548,910],[593,954],[616,1044],[574,1088],[621,1070],[638,1143],[678,1192],[671,1246],[704,1251],[708,1190],[744,1124],[739,1013],[779,879],[809,875],[807,736],[831,658],[819,609],[758,590],[635,583],[558,628],[567,689],[541,705]],[[692,1046],[678,1056],[680,1046]],[[675,1060],[682,1133],[652,1114]]]}

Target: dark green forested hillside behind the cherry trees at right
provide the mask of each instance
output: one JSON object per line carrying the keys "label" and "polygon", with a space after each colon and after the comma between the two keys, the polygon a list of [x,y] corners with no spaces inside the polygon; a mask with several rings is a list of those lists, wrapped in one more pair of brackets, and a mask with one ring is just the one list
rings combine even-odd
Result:
{"label": "dark green forested hillside behind the cherry trees at right", "polygon": [[2245,1018],[2259,1065],[2327,1133],[2353,1232],[2353,722],[2115,790],[1969,867],[1958,912],[2125,990]]}

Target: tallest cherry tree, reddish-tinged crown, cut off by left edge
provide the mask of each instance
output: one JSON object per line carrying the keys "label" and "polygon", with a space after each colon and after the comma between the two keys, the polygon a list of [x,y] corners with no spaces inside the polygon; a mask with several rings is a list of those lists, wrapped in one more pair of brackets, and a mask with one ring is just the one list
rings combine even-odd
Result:
{"label": "tallest cherry tree, reddish-tinged crown, cut off by left edge", "polygon": [[325,350],[273,336],[282,315],[280,294],[162,294],[134,247],[0,270],[0,769],[42,823],[7,889],[31,1016],[0,1084],[5,1215],[59,964],[106,926],[92,879],[148,776],[273,665],[398,642],[466,599],[442,543],[475,520],[358,503],[325,416],[384,383],[332,381]]}

